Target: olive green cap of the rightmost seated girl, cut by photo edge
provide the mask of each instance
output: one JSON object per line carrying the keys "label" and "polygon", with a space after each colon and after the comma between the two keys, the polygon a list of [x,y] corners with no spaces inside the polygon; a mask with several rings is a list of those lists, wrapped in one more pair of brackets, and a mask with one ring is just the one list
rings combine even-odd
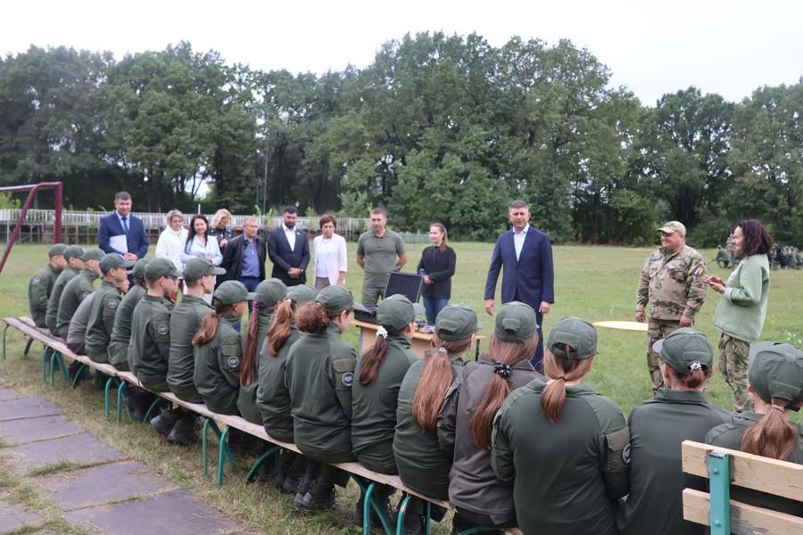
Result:
{"label": "olive green cap of the rightmost seated girl, cut by photo edge", "polygon": [[766,403],[803,401],[803,351],[789,343],[758,342],[750,347],[748,381]]}

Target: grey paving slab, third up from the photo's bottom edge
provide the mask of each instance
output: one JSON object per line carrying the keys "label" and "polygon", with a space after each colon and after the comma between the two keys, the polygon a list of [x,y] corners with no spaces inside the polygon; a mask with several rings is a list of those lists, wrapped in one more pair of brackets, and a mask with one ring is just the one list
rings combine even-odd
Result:
{"label": "grey paving slab, third up from the photo's bottom edge", "polygon": [[6,451],[15,457],[13,467],[23,471],[63,460],[74,463],[103,463],[125,457],[122,452],[97,440],[88,432],[0,449],[0,452]]}

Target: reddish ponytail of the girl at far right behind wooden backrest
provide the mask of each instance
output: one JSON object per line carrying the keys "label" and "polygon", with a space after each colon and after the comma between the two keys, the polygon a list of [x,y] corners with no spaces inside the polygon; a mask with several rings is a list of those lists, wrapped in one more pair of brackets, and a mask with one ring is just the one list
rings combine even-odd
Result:
{"label": "reddish ponytail of the girl at far right behind wooden backrest", "polygon": [[773,398],[763,418],[741,437],[741,451],[785,461],[798,444],[798,428],[784,417],[787,399]]}

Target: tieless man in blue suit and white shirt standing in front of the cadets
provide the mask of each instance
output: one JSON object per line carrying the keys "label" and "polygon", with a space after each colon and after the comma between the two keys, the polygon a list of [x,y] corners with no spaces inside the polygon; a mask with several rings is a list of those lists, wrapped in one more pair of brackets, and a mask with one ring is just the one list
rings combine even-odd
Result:
{"label": "tieless man in blue suit and white shirt standing in front of the cadets", "polygon": [[485,312],[493,316],[493,294],[499,271],[502,275],[502,304],[517,300],[533,307],[538,319],[538,349],[532,363],[542,371],[543,315],[555,302],[555,276],[552,270],[550,238],[529,225],[530,210],[524,201],[510,203],[508,218],[513,228],[500,235],[491,255],[491,267],[485,280]]}

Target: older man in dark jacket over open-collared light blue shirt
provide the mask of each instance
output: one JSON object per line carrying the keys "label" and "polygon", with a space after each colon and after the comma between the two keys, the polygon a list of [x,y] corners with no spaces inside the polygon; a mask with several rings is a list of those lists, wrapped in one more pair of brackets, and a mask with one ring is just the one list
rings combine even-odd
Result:
{"label": "older man in dark jacket over open-collared light blue shirt", "polygon": [[220,268],[226,269],[227,280],[240,281],[249,292],[265,280],[265,240],[258,235],[260,221],[245,218],[243,234],[228,243]]}

